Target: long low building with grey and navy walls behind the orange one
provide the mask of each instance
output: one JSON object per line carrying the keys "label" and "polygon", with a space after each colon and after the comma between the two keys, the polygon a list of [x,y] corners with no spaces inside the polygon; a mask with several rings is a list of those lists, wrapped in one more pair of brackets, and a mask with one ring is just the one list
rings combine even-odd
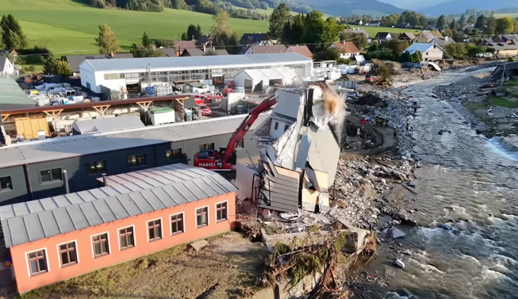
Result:
{"label": "long low building with grey and navy walls behind the orange one", "polygon": [[[224,116],[116,132],[64,136],[0,147],[0,205],[98,187],[97,178],[171,165],[193,164],[200,149],[226,147],[247,115]],[[251,134],[236,148],[238,159],[258,156]],[[86,129],[88,130],[88,129]],[[66,172],[66,174],[64,174]]]}

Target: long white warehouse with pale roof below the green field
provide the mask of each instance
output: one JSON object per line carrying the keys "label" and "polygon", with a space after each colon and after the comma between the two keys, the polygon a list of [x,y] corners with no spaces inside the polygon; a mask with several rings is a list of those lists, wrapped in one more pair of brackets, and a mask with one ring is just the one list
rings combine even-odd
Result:
{"label": "long white warehouse with pale roof below the green field", "polygon": [[300,78],[311,76],[313,61],[297,53],[225,56],[86,59],[79,65],[81,85],[100,94],[101,86],[121,90],[142,82],[184,83],[212,80],[213,85],[233,81],[242,70],[290,68]]}

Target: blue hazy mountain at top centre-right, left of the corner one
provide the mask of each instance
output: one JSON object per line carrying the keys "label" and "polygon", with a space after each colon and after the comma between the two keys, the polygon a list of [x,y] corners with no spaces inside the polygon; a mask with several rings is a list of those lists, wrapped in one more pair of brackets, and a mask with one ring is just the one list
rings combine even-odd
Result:
{"label": "blue hazy mountain at top centre-right, left of the corner one", "polygon": [[401,14],[403,8],[376,0],[299,0],[315,10],[333,16],[348,16],[351,14],[372,14],[376,17],[388,14]]}

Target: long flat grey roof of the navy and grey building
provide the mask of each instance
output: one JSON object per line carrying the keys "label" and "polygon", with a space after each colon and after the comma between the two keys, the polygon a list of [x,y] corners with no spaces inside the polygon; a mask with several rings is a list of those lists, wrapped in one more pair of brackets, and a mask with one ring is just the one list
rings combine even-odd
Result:
{"label": "long flat grey roof of the navy and grey building", "polygon": [[[271,112],[260,114],[250,130],[256,129],[270,114]],[[148,126],[142,129],[56,137],[44,141],[26,141],[0,147],[0,168],[229,134],[236,130],[244,117],[245,115],[224,116],[203,121]]]}

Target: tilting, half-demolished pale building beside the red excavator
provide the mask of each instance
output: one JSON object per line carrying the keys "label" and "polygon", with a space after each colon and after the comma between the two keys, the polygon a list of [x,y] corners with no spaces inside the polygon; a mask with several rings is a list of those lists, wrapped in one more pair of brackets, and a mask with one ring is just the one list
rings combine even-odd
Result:
{"label": "tilting, half-demolished pale building beside the red excavator", "polygon": [[[329,210],[345,118],[345,99],[327,84],[276,90],[278,104],[253,139],[261,161],[251,194],[258,207],[298,213]],[[244,169],[244,168],[240,168]],[[244,171],[244,170],[243,170]],[[241,175],[238,169],[237,185]]]}

